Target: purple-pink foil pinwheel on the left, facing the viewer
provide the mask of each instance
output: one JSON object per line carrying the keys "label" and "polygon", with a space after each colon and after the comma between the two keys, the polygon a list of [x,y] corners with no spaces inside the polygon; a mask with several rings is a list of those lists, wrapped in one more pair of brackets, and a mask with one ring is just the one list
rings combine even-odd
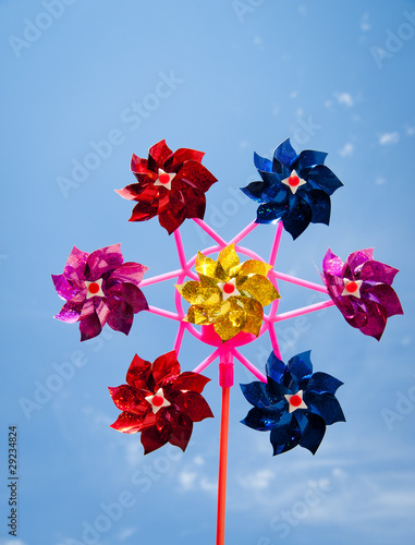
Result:
{"label": "purple-pink foil pinwheel on the left, facing the viewer", "polygon": [[148,308],[138,288],[148,267],[123,263],[121,244],[91,254],[73,247],[62,275],[52,275],[54,288],[66,303],[56,318],[80,322],[81,340],[101,332],[105,324],[129,335],[134,314]]}

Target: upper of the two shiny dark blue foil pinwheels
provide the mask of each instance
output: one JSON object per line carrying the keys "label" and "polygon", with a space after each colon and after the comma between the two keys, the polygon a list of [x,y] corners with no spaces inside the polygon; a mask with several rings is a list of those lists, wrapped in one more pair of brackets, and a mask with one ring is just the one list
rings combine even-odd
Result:
{"label": "upper of the two shiny dark blue foil pinwheels", "polygon": [[263,181],[241,190],[257,203],[257,223],[282,220],[296,239],[309,223],[330,221],[330,195],[343,184],[324,165],[327,154],[306,149],[297,155],[290,138],[280,144],[270,161],[254,153],[254,164]]}

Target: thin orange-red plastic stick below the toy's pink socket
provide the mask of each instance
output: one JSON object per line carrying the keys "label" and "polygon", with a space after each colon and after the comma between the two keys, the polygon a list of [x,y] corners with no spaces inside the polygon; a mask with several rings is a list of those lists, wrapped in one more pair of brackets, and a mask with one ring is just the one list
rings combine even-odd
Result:
{"label": "thin orange-red plastic stick below the toy's pink socket", "polygon": [[218,477],[218,519],[216,544],[224,545],[224,517],[227,504],[227,467],[228,467],[228,435],[229,435],[229,402],[231,388],[222,388],[222,409],[220,417],[219,444],[219,477]]}

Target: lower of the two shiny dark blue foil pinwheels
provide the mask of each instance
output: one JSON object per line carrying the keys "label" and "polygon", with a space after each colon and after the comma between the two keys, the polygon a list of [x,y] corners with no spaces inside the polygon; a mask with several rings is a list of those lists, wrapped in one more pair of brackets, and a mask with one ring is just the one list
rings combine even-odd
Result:
{"label": "lower of the two shiny dark blue foil pinwheels", "polygon": [[310,351],[294,355],[285,365],[271,352],[266,364],[267,383],[242,384],[242,392],[254,405],[242,421],[259,432],[271,432],[273,456],[300,445],[313,455],[326,426],[345,422],[334,397],[343,383],[326,373],[313,373]]}

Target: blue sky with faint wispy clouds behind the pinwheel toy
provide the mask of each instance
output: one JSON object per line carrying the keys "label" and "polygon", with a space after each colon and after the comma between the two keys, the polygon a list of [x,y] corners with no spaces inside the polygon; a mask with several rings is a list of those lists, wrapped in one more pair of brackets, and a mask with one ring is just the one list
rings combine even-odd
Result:
{"label": "blue sky with faint wispy clouds behind the pinwheel toy", "polygon": [[[91,252],[121,242],[125,259],[151,276],[175,268],[172,237],[157,220],[129,223],[131,204],[113,193],[133,181],[131,155],[145,157],[163,137],[172,149],[206,152],[219,183],[205,220],[227,239],[255,217],[239,192],[256,178],[254,150],[269,157],[290,136],[298,152],[328,152],[344,183],[330,227],[310,226],[294,242],[284,232],[278,268],[318,282],[315,264],[329,246],[343,258],[375,246],[401,269],[405,316],[388,323],[380,343],[335,308],[278,329],[285,359],[312,350],[316,371],[345,383],[338,397],[347,422],[328,428],[315,457],[297,448],[273,458],[268,434],[239,423],[248,407],[232,391],[228,543],[414,538],[414,38],[408,0],[0,2],[3,516],[8,426],[20,434],[19,537],[2,518],[1,545],[215,542],[216,364],[205,390],[216,419],[195,426],[184,455],[144,458],[138,436],[109,427],[118,410],[107,386],[124,383],[134,353],[152,361],[171,350],[175,325],[141,313],[127,338],[106,328],[81,344],[76,326],[52,319],[61,301],[50,274],[74,244]],[[95,162],[94,146],[105,149]],[[188,256],[210,245],[192,221],[181,230]],[[246,244],[266,256],[271,231],[256,229]],[[280,291],[282,311],[313,296],[282,282]],[[172,283],[146,295],[173,310]],[[244,354],[263,368],[269,351],[261,338]],[[207,353],[186,336],[182,367]],[[64,362],[73,376],[48,390]],[[240,366],[235,375],[251,380]],[[24,410],[40,390],[41,402]]]}

